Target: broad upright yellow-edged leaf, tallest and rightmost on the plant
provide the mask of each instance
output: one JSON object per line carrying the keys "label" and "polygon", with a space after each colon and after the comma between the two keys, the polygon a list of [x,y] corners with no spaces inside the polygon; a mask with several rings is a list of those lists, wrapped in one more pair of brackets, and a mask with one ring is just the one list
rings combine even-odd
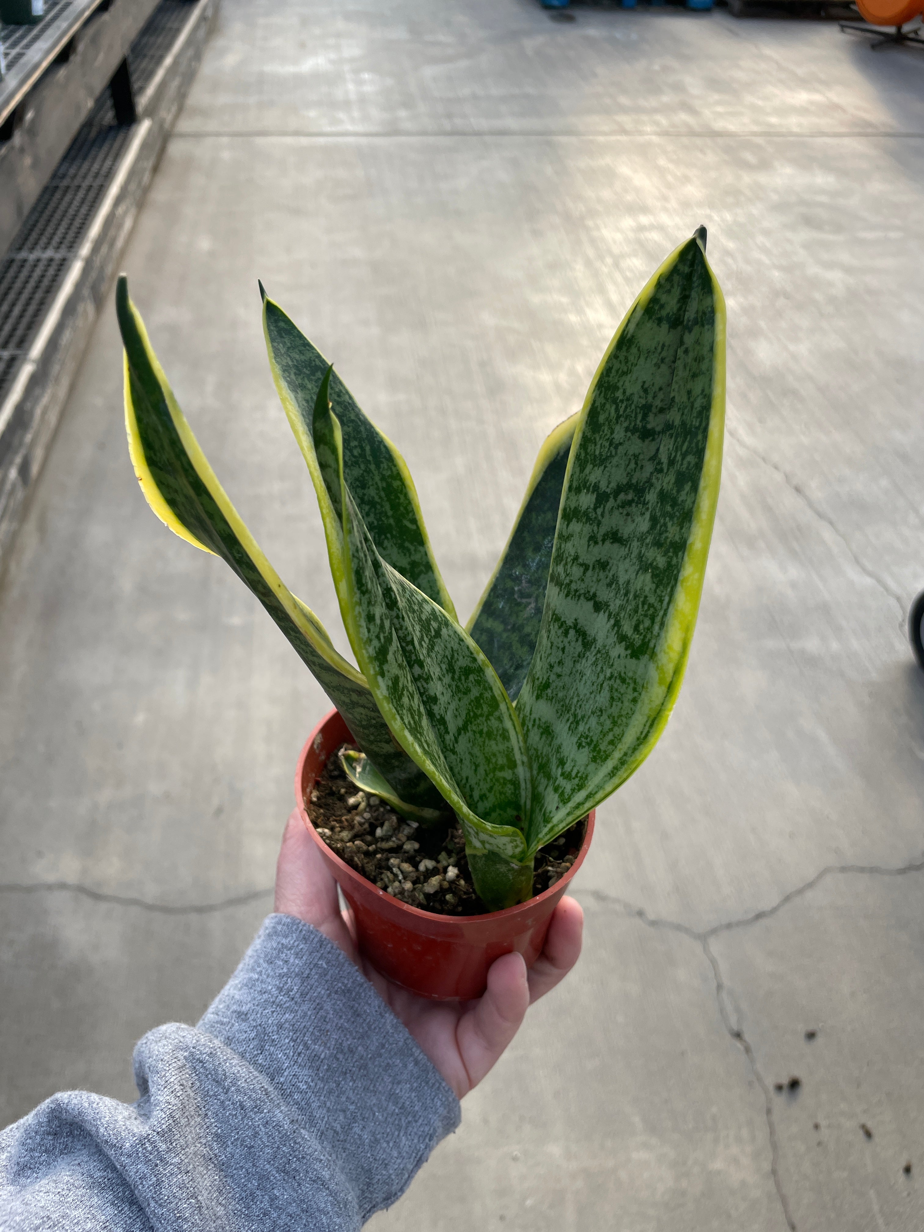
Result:
{"label": "broad upright yellow-edged leaf, tallest and rightmost on the plant", "polygon": [[724,320],[691,239],[632,306],[588,392],[517,701],[531,851],[641,765],[680,689],[718,499]]}

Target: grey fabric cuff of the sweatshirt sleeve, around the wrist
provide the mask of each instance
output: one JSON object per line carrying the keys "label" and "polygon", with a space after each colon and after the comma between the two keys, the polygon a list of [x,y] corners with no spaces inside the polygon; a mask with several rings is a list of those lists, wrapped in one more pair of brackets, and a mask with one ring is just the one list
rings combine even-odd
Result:
{"label": "grey fabric cuff of the sweatshirt sleeve, around the wrist", "polygon": [[198,1024],[253,1066],[336,1159],[362,1218],[394,1202],[460,1104],[322,933],[270,915]]}

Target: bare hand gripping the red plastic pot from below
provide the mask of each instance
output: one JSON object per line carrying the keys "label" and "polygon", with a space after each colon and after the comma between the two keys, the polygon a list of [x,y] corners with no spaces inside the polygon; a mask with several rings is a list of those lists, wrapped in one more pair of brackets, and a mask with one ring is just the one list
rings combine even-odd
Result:
{"label": "bare hand gripping the red plastic pot from below", "polygon": [[522,956],[505,954],[488,972],[488,989],[472,1002],[435,1002],[398,988],[357,952],[336,882],[296,809],[286,823],[276,865],[276,910],[312,924],[356,963],[407,1026],[458,1099],[484,1078],[520,1029],[530,1005],[578,961],[584,913],[562,898],[542,954],[527,971]]}

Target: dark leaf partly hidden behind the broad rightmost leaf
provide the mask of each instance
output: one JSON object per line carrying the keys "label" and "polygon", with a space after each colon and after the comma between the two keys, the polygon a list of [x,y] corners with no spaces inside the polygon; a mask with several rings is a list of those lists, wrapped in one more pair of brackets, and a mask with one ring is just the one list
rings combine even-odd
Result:
{"label": "dark leaf partly hidden behind the broad rightmost leaf", "polygon": [[530,670],[542,623],[558,506],[577,426],[575,414],[546,437],[510,538],[466,625],[514,701]]}

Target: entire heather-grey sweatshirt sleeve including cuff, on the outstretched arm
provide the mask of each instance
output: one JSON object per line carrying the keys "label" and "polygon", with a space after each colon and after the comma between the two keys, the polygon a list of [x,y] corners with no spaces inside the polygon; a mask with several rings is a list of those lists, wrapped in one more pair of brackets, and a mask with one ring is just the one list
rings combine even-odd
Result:
{"label": "entire heather-grey sweatshirt sleeve including cuff, on the outstretched arm", "polygon": [[2,1232],[347,1232],[460,1105],[333,942],[270,915],[198,1027],[150,1031],[140,1099],[54,1095],[0,1133]]}

